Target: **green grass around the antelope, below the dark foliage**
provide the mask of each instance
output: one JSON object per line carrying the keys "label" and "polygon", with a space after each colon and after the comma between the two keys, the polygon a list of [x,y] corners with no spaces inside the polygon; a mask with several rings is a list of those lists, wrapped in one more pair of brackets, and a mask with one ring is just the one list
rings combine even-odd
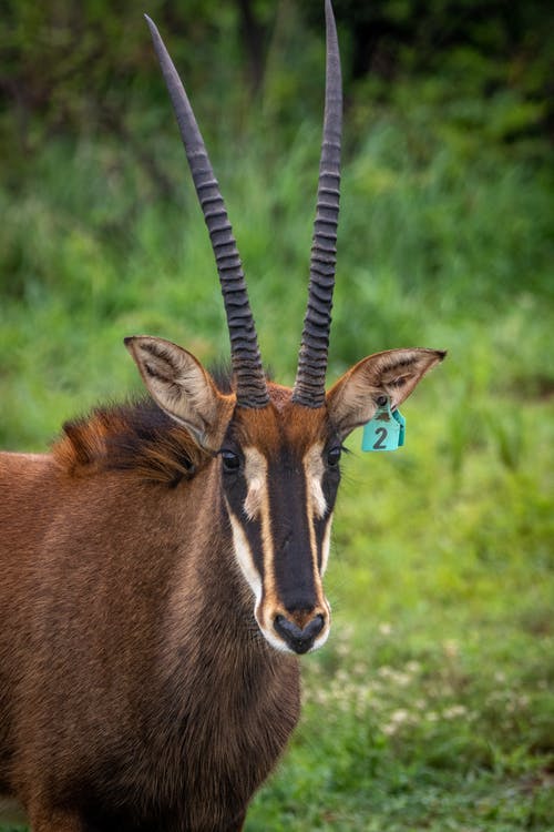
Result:
{"label": "green grass around the antelope, below the dark foliage", "polygon": [[[329,377],[392,346],[449,358],[403,408],[402,450],[351,438],[334,632],[304,661],[302,722],[247,832],[552,829],[552,181],[427,130],[383,114],[350,150]],[[214,151],[263,354],[288,383],[318,132]],[[185,179],[173,134],[155,152]],[[2,186],[2,447],[44,449],[64,418],[138,388],[124,335],[227,354],[191,191],[156,196],[105,139],[59,139]]]}

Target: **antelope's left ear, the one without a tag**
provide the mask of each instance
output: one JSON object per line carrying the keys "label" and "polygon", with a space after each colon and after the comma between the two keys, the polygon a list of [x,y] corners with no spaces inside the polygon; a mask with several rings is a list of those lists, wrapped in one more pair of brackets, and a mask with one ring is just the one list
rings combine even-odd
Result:
{"label": "antelope's left ear, the one without a tag", "polygon": [[188,428],[201,447],[217,450],[235,397],[219,393],[199,361],[171,341],[137,335],[125,338],[125,346],[156,404]]}

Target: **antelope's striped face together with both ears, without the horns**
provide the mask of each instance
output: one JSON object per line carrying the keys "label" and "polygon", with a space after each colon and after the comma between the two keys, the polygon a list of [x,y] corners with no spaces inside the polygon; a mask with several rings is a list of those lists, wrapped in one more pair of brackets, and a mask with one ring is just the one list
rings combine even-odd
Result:
{"label": "antelope's striped face together with both ears, without the horns", "polygon": [[[278,650],[305,653],[329,635],[321,578],[329,556],[341,443],[387,396],[398,406],[443,353],[392,349],[349,369],[321,407],[267,386],[264,407],[222,394],[201,363],[162,338],[127,338],[150,393],[215,457],[232,544],[254,616]],[[208,510],[209,510],[208,506]]]}

